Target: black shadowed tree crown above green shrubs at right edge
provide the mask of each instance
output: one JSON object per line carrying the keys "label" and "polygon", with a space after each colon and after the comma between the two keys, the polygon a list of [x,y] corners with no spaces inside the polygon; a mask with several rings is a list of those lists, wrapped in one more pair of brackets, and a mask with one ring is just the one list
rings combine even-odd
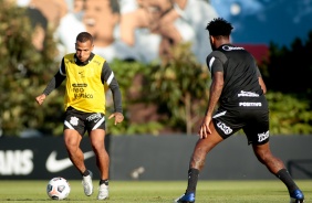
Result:
{"label": "black shadowed tree crown above green shrubs at right edge", "polygon": [[291,47],[270,44],[270,58],[264,62],[263,78],[269,89],[298,96],[312,94],[312,32],[305,43],[295,39]]}

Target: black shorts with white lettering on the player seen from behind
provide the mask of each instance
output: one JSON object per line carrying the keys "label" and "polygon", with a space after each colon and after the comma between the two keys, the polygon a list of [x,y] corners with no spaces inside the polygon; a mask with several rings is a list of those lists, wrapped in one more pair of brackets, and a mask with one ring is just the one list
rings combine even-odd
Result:
{"label": "black shorts with white lettering on the player seen from behind", "polygon": [[269,141],[268,110],[223,110],[218,109],[212,121],[218,133],[227,139],[240,129],[248,138],[248,145],[263,145]]}

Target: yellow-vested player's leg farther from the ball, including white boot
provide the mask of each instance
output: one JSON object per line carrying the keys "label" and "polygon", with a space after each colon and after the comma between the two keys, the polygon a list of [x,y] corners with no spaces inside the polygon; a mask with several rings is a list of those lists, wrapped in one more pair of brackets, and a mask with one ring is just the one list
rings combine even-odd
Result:
{"label": "yellow-vested player's leg farther from the ball, including white boot", "polygon": [[110,157],[105,149],[105,130],[95,129],[90,133],[91,146],[96,157],[96,165],[101,173],[98,200],[105,200],[108,197],[108,169]]}

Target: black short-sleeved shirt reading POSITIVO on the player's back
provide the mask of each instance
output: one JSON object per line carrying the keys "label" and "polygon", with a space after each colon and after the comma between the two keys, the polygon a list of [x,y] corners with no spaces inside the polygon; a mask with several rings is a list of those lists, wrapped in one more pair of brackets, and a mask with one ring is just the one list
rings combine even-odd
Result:
{"label": "black short-sleeved shirt reading POSITIVO on the player's back", "polygon": [[267,109],[268,104],[259,84],[261,77],[253,56],[243,47],[223,44],[207,56],[212,79],[223,72],[223,89],[219,99],[225,109]]}

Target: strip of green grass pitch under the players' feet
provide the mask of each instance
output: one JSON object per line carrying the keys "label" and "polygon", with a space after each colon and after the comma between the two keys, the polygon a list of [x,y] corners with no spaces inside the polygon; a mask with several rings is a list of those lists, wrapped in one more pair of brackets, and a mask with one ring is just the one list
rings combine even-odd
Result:
{"label": "strip of green grass pitch under the players' feet", "polygon": [[[97,202],[95,193],[85,196],[81,181],[69,180],[71,193],[61,202]],[[48,181],[0,181],[1,203],[54,202],[45,193]],[[312,180],[298,180],[303,190],[305,203],[312,203]],[[95,184],[95,181],[94,181]],[[186,189],[186,181],[111,181],[110,203],[160,203],[173,202]],[[199,181],[197,203],[287,203],[289,195],[285,186],[273,181]]]}

